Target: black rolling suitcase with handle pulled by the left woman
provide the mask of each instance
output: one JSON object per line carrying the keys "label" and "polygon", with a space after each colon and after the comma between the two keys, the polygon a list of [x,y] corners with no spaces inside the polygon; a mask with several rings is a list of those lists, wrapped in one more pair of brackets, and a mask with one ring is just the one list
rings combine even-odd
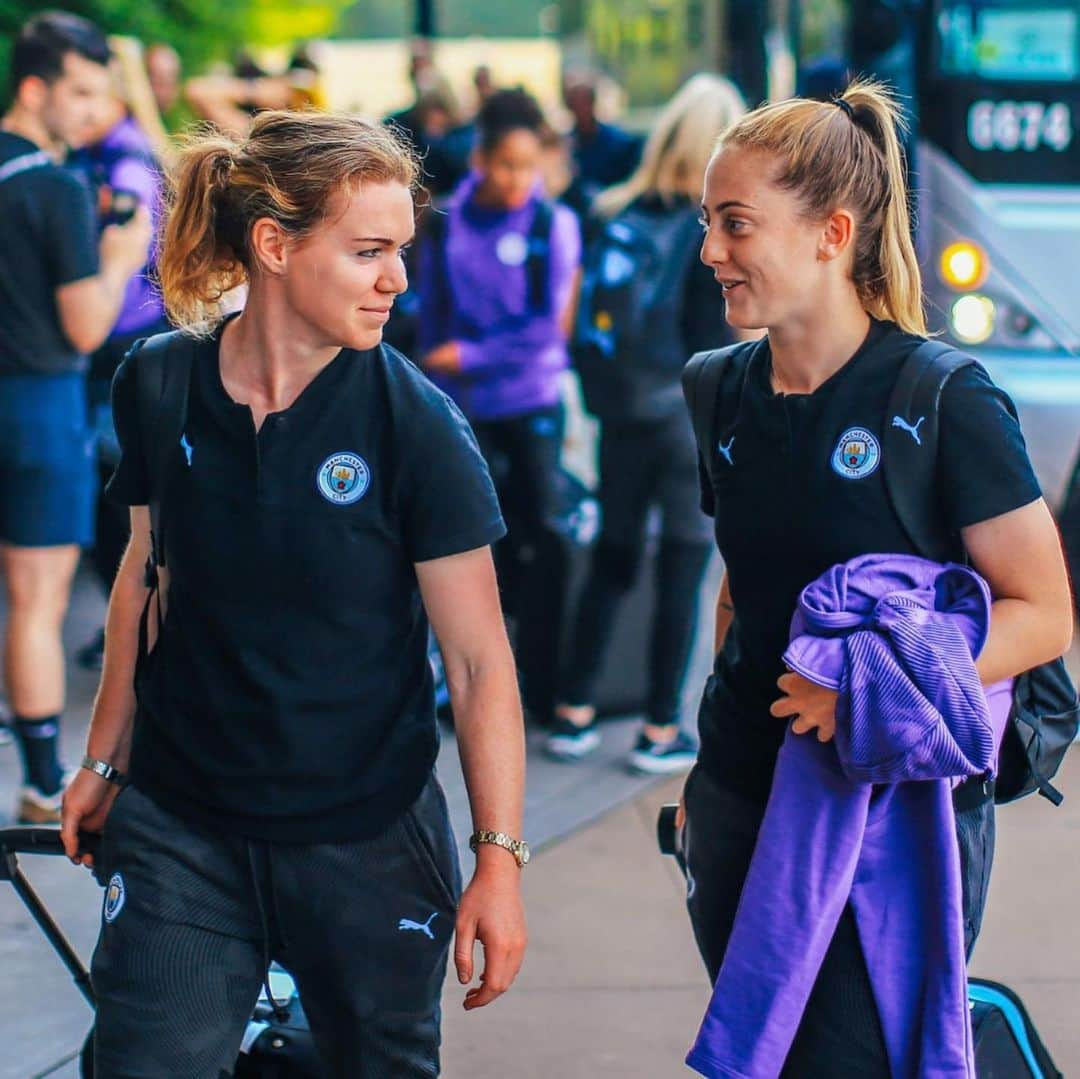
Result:
{"label": "black rolling suitcase with handle pulled by the left woman", "polygon": [[[86,836],[84,849],[93,854],[97,844],[97,836]],[[93,1008],[95,1000],[90,972],[18,864],[19,854],[63,853],[64,848],[56,828],[0,828],[0,880],[11,882],[68,969],[83,999]],[[99,878],[98,882],[102,882]],[[275,1011],[270,1006],[264,990],[244,1031],[234,1071],[237,1079],[320,1079],[323,1073],[293,980],[285,971],[273,970],[270,973],[270,985],[279,1007]],[[93,1036],[94,1031],[91,1029],[82,1048],[82,1079],[93,1079]]]}

